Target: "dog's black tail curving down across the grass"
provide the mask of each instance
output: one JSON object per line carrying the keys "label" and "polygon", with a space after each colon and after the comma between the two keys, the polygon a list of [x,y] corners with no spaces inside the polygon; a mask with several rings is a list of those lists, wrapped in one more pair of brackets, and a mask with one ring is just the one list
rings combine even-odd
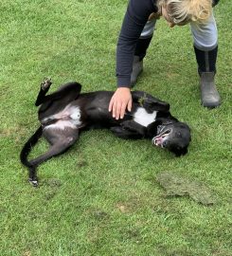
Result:
{"label": "dog's black tail curving down across the grass", "polygon": [[42,134],[43,134],[43,128],[42,126],[40,126],[37,129],[37,131],[27,140],[27,142],[25,143],[20,153],[20,160],[22,164],[24,164],[28,168],[32,168],[33,166],[28,161],[27,156],[29,155],[32,147],[38,142],[39,138],[42,137]]}

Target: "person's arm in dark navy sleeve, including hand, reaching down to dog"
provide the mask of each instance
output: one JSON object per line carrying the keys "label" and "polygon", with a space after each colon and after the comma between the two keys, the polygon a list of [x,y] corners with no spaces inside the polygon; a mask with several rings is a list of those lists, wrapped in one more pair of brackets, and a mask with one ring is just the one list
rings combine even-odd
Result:
{"label": "person's arm in dark navy sleeve, including hand, reaching down to dog", "polygon": [[158,9],[154,0],[130,0],[116,47],[117,89],[109,104],[113,118],[123,119],[126,108],[132,109],[131,73],[134,49],[150,14]]}

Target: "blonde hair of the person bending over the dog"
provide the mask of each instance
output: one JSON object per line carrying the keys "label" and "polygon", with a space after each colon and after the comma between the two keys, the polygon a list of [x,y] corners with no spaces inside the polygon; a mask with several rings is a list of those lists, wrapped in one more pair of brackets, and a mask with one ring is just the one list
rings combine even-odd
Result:
{"label": "blonde hair of the person bending over the dog", "polygon": [[185,25],[190,21],[205,23],[212,13],[212,0],[160,0],[170,22]]}

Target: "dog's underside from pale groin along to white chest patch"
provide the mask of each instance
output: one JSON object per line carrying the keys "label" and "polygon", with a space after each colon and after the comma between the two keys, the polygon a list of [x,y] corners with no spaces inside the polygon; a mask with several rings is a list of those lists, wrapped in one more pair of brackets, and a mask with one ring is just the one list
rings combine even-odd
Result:
{"label": "dog's underside from pale groin along to white chest patch", "polygon": [[134,119],[135,122],[147,127],[155,121],[157,111],[148,113],[143,107],[134,107],[134,110],[125,114],[124,119],[114,119],[112,113],[106,108],[106,104],[83,105],[81,101],[75,101],[66,105],[60,112],[47,116],[41,120],[44,129],[65,130],[80,129],[83,127],[109,128],[119,125],[125,119]]}

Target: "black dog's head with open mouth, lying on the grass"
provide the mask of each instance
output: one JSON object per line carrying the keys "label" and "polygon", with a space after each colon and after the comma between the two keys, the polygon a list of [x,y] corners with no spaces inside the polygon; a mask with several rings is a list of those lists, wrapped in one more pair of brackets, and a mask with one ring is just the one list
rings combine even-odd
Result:
{"label": "black dog's head with open mouth, lying on the grass", "polygon": [[155,146],[166,148],[176,156],[187,154],[190,141],[190,128],[180,121],[158,125],[157,134],[152,138]]}

